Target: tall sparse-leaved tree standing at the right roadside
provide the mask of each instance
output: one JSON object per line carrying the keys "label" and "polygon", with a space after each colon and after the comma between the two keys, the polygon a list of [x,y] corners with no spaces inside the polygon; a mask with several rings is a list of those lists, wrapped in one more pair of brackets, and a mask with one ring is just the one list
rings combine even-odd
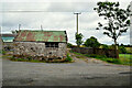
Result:
{"label": "tall sparse-leaved tree standing at the right roadside", "polygon": [[119,58],[117,40],[122,33],[125,33],[130,26],[130,6],[127,10],[120,9],[119,2],[105,1],[98,2],[97,6],[98,8],[94,8],[94,10],[97,11],[99,16],[103,16],[103,19],[107,20],[105,24],[99,22],[97,30],[106,30],[103,34],[113,40],[117,58]]}

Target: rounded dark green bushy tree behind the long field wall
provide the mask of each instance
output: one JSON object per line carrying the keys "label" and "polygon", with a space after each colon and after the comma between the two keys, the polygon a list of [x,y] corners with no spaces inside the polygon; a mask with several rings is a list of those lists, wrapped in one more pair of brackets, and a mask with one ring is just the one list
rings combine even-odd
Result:
{"label": "rounded dark green bushy tree behind the long field wall", "polygon": [[97,41],[96,37],[91,36],[90,38],[87,38],[85,44],[87,47],[96,47],[98,48],[100,46],[100,43]]}

